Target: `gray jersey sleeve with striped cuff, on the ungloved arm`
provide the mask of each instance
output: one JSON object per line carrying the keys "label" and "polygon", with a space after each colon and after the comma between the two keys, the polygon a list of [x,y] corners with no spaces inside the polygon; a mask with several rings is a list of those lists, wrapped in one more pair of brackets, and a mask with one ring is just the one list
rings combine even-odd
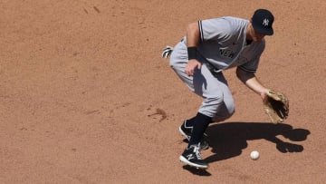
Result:
{"label": "gray jersey sleeve with striped cuff, on the ungloved arm", "polygon": [[225,18],[213,18],[198,21],[200,41],[223,40],[231,37],[231,25]]}

